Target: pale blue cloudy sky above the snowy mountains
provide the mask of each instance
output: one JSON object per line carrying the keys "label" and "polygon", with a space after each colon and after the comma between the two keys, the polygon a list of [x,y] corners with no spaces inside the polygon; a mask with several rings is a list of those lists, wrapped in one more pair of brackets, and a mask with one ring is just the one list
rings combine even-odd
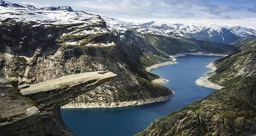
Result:
{"label": "pale blue cloudy sky above the snowy mountains", "polygon": [[256,0],[9,0],[36,7],[71,6],[74,10],[123,21],[225,23],[256,26]]}

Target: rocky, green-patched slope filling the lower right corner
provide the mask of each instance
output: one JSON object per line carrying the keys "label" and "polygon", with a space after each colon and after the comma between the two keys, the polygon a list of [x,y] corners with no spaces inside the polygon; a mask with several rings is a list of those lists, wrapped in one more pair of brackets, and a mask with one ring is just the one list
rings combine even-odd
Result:
{"label": "rocky, green-patched slope filling the lower right corner", "polygon": [[256,40],[214,64],[217,74],[209,80],[225,88],[155,120],[137,136],[254,136]]}

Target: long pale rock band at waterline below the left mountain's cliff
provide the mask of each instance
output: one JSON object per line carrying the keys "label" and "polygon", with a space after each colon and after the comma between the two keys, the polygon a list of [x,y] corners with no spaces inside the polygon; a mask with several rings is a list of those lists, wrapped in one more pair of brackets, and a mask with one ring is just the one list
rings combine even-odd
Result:
{"label": "long pale rock band at waterline below the left mountain's cliff", "polygon": [[61,109],[120,108],[120,107],[129,107],[129,106],[137,106],[137,105],[152,104],[152,103],[157,103],[157,102],[164,102],[164,101],[170,100],[172,97],[174,97],[174,92],[168,96],[154,97],[154,98],[149,98],[147,100],[135,100],[135,101],[128,101],[128,102],[112,102],[112,103],[108,103],[108,104],[95,104],[95,103],[72,104],[72,102],[71,102],[64,106],[61,106]]}

